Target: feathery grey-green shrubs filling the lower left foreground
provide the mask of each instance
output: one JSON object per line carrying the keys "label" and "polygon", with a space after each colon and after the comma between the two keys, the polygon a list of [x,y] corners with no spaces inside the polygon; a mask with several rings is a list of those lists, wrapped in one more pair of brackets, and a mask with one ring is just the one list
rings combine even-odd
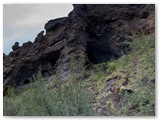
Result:
{"label": "feathery grey-green shrubs filling the lower left foreground", "polygon": [[[38,80],[38,81],[37,81]],[[83,81],[71,78],[67,84],[46,86],[46,79],[34,77],[28,90],[4,97],[5,116],[84,116],[95,115],[92,94]],[[55,82],[55,84],[58,84]]]}

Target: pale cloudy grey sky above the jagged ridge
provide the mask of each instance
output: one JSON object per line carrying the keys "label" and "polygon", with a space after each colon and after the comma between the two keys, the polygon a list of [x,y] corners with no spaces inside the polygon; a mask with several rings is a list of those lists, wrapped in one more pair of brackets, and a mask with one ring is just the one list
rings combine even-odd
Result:
{"label": "pale cloudy grey sky above the jagged ridge", "polygon": [[3,6],[3,52],[12,51],[12,45],[34,41],[50,19],[67,16],[71,4],[5,4]]}

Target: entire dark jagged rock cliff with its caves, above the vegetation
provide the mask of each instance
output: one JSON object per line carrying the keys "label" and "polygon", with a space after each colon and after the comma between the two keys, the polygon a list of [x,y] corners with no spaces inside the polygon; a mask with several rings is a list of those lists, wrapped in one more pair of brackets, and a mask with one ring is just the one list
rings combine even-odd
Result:
{"label": "entire dark jagged rock cliff with its caves, above the vegetation", "polygon": [[50,77],[61,65],[63,78],[69,74],[71,56],[85,53],[89,63],[98,64],[120,57],[128,47],[133,31],[154,32],[155,6],[149,4],[73,5],[68,17],[53,19],[45,24],[35,41],[22,46],[16,42],[9,55],[3,54],[4,91],[7,86],[29,83],[40,71]]}

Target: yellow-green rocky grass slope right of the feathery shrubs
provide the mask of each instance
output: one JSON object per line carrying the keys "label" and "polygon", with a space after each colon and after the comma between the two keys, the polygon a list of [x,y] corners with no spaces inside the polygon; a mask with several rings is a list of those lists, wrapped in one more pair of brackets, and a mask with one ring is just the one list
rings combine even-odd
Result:
{"label": "yellow-green rocky grass slope right of the feathery shrubs", "polygon": [[154,36],[135,36],[129,44],[131,51],[106,63],[107,75],[98,80],[99,115],[155,115]]}

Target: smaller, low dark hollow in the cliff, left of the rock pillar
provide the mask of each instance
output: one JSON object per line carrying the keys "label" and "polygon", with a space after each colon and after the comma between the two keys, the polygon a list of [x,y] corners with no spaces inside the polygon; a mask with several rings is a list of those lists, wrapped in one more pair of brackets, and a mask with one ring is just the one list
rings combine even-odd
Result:
{"label": "smaller, low dark hollow in the cliff, left of the rock pillar", "polygon": [[44,77],[49,77],[55,72],[55,64],[59,59],[60,51],[50,52],[42,56],[38,62],[29,62],[22,66],[15,77],[15,86],[22,86],[30,83],[30,78],[33,74],[40,71]]}

